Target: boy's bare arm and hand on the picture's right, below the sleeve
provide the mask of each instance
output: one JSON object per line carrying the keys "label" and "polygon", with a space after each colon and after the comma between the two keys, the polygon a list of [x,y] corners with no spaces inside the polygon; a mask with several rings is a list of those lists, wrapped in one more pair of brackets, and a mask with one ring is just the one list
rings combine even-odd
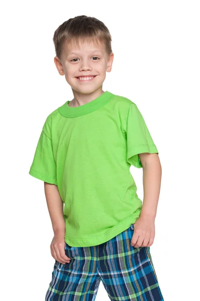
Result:
{"label": "boy's bare arm and hand on the picture's right, below the sleeve", "polygon": [[143,169],[143,203],[139,218],[134,223],[130,245],[150,247],[155,236],[155,216],[161,185],[161,165],[158,154],[138,154]]}

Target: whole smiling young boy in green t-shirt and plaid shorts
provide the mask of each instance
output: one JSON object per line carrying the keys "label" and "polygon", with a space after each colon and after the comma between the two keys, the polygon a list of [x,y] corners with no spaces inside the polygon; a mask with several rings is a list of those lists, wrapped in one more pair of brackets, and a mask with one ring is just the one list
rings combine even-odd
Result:
{"label": "whole smiling young boy in green t-shirt and plaid shorts", "polygon": [[[113,62],[109,31],[77,16],[53,42],[74,97],[47,116],[29,171],[44,181],[54,232],[45,301],[94,300],[100,280],[110,300],[161,301],[149,251],[161,166],[136,104],[102,90]],[[143,169],[143,204],[131,165]]]}

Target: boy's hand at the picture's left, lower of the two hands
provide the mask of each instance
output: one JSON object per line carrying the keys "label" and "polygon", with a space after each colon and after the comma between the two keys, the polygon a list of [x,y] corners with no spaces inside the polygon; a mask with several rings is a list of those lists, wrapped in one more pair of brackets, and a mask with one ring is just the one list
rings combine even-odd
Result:
{"label": "boy's hand at the picture's left, lower of the two hands", "polygon": [[65,255],[64,247],[63,235],[54,235],[50,244],[50,252],[52,257],[62,264],[69,263],[71,259]]}

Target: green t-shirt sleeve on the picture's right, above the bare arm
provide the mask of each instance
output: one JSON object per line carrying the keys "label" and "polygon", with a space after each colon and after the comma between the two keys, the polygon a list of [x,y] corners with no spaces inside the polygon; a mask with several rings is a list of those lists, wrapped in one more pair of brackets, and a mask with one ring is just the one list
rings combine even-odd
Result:
{"label": "green t-shirt sleeve on the picture's right, above the bare arm", "polygon": [[123,133],[127,143],[126,159],[129,164],[136,168],[142,168],[138,154],[158,154],[146,123],[135,103],[129,105]]}

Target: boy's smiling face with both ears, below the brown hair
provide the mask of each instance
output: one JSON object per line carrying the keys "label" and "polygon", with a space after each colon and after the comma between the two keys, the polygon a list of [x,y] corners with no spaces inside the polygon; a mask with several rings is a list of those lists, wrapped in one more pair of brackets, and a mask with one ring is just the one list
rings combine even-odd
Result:
{"label": "boy's smiling face with both ears, below the brown hair", "polygon": [[[92,93],[101,87],[106,72],[111,71],[113,53],[108,56],[104,43],[94,44],[92,41],[80,43],[80,48],[66,43],[59,59],[54,58],[60,75],[64,75],[72,89],[79,93]],[[94,76],[92,79],[78,79],[79,76]]]}

